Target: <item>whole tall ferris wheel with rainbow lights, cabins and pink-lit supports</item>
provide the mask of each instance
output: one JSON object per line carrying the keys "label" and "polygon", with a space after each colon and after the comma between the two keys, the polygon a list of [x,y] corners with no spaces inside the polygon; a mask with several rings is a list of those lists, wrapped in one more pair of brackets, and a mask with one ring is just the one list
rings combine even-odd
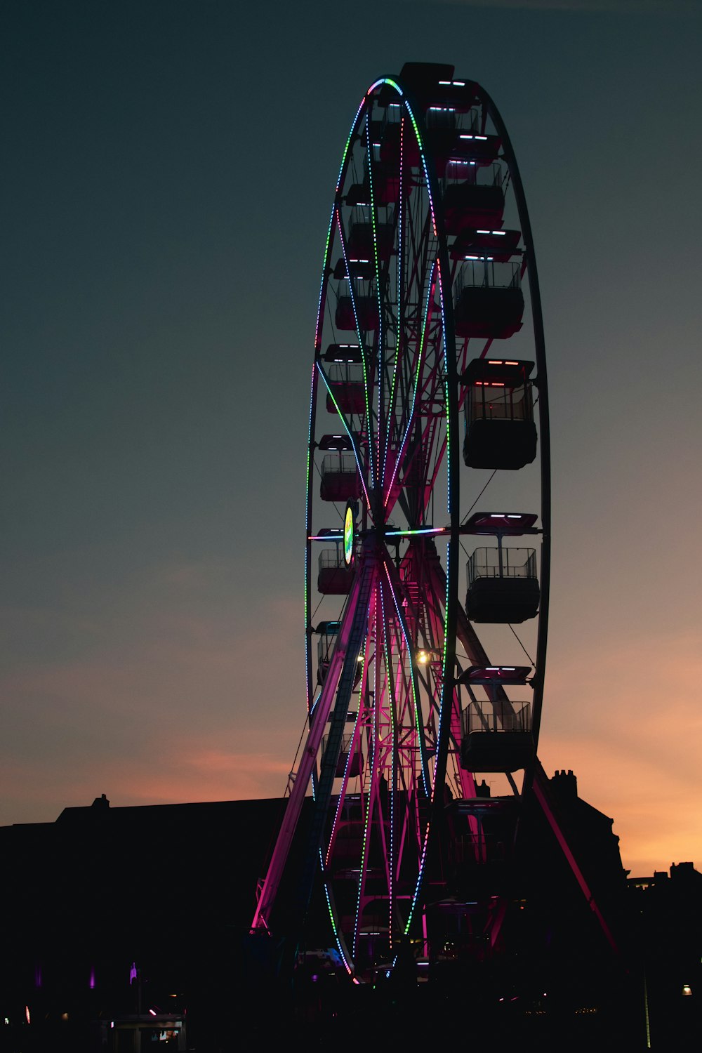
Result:
{"label": "whole tall ferris wheel with rainbow lights, cabins and pink-lit supports", "polygon": [[480,85],[408,63],[363,96],[334,193],[309,403],[308,730],[253,931],[270,925],[312,787],[299,906],[321,870],[357,981],[403,943],[497,942],[536,764],[548,545],[515,156]]}

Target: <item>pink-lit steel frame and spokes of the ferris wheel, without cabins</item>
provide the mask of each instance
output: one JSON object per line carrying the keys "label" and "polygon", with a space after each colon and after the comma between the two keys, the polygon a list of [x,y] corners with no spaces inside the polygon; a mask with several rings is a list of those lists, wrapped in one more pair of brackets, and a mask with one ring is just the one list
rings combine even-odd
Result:
{"label": "pink-lit steel frame and spokes of the ferris wheel, without cabins", "polygon": [[[442,196],[452,178],[448,165],[475,162],[437,163],[427,145],[427,128],[430,132],[433,120],[440,123],[444,112],[456,115],[452,122],[457,134],[473,130],[461,136],[464,140],[485,140],[487,132],[499,137],[498,174],[508,187],[513,218],[521,231],[517,256],[530,298],[540,471],[500,473],[510,478],[502,489],[493,482],[490,486],[497,485],[498,500],[506,503],[514,477],[525,474],[526,484],[520,482],[517,499],[528,493],[540,510],[541,603],[531,633],[530,677],[535,742],[543,692],[548,420],[530,227],[514,153],[489,97],[477,84],[453,79],[441,80],[436,95],[440,102],[432,108],[410,77],[406,82],[389,77],[376,81],[359,105],[343,153],[324,254],[309,406],[305,541],[309,730],[253,922],[254,931],[268,928],[312,783],[313,831],[299,908],[304,910],[314,870],[321,867],[339,953],[355,978],[363,977],[364,971],[367,975],[379,959],[392,961],[403,935],[420,940],[427,953],[426,908],[432,896],[425,879],[433,831],[444,821],[447,788],[464,802],[457,821],[462,823],[459,832],[468,851],[478,861],[487,853],[475,777],[460,764],[466,696],[458,680],[469,665],[489,661],[488,644],[478,638],[459,596],[466,510],[486,480],[485,473],[472,473],[460,464],[459,415],[465,390],[459,376],[472,358],[489,353],[493,341],[456,337],[454,297],[463,262],[449,255]],[[453,105],[443,104],[446,98]],[[461,178],[460,172],[456,178]],[[366,235],[367,255],[363,254],[366,241],[357,237],[359,230]],[[519,339],[523,341],[524,335]],[[343,349],[341,361],[334,361],[333,347]],[[348,593],[320,598],[313,591],[313,574],[321,541],[339,553],[339,570],[345,572],[340,536],[344,502],[335,505],[319,498],[325,455],[320,443],[327,456],[334,446],[328,432],[340,436],[338,446],[353,456],[359,490]],[[334,562],[334,555],[329,560]],[[315,662],[317,620],[335,623],[323,667]],[[505,647],[497,640],[495,645]],[[514,654],[512,637],[509,645]],[[509,660],[504,650],[498,658]],[[483,694],[486,699],[499,695],[508,700],[502,687]],[[474,703],[480,706],[475,696],[474,692]],[[507,775],[507,792],[519,798],[533,775],[527,766],[521,788]],[[470,801],[476,802],[473,810]],[[503,913],[500,897],[488,897],[474,925],[495,942]]]}

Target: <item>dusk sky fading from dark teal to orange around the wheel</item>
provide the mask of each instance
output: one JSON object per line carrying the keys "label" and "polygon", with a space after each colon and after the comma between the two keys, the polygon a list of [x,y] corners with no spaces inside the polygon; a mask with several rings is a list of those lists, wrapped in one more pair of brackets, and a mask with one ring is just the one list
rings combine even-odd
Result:
{"label": "dusk sky fading from dark teal to orange around the wheel", "polygon": [[375,78],[509,130],[553,445],[548,774],[702,868],[702,5],[0,7],[0,823],[280,796],[324,239]]}

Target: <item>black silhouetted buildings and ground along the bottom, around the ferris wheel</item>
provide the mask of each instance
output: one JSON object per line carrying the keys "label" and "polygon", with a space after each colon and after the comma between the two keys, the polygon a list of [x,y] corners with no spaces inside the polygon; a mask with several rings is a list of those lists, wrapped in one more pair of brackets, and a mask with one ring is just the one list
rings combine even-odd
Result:
{"label": "black silhouetted buildings and ground along the bottom, around the ferris wheel", "polygon": [[216,1053],[238,1041],[265,1049],[278,1033],[288,1048],[350,1049],[374,1017],[398,1037],[430,1040],[438,1018],[446,1038],[460,1037],[466,1014],[484,1040],[695,1048],[702,875],[682,862],[669,876],[627,878],[613,820],[578,796],[573,772],[548,786],[606,932],[529,795],[502,952],[452,960],[447,951],[423,982],[403,950],[393,981],[375,990],[336,973],[319,890],[295,948],[315,953],[294,982],[276,975],[276,940],[263,955],[248,941],[280,800],[113,808],[103,794],[56,822],[0,828],[0,1051]]}

